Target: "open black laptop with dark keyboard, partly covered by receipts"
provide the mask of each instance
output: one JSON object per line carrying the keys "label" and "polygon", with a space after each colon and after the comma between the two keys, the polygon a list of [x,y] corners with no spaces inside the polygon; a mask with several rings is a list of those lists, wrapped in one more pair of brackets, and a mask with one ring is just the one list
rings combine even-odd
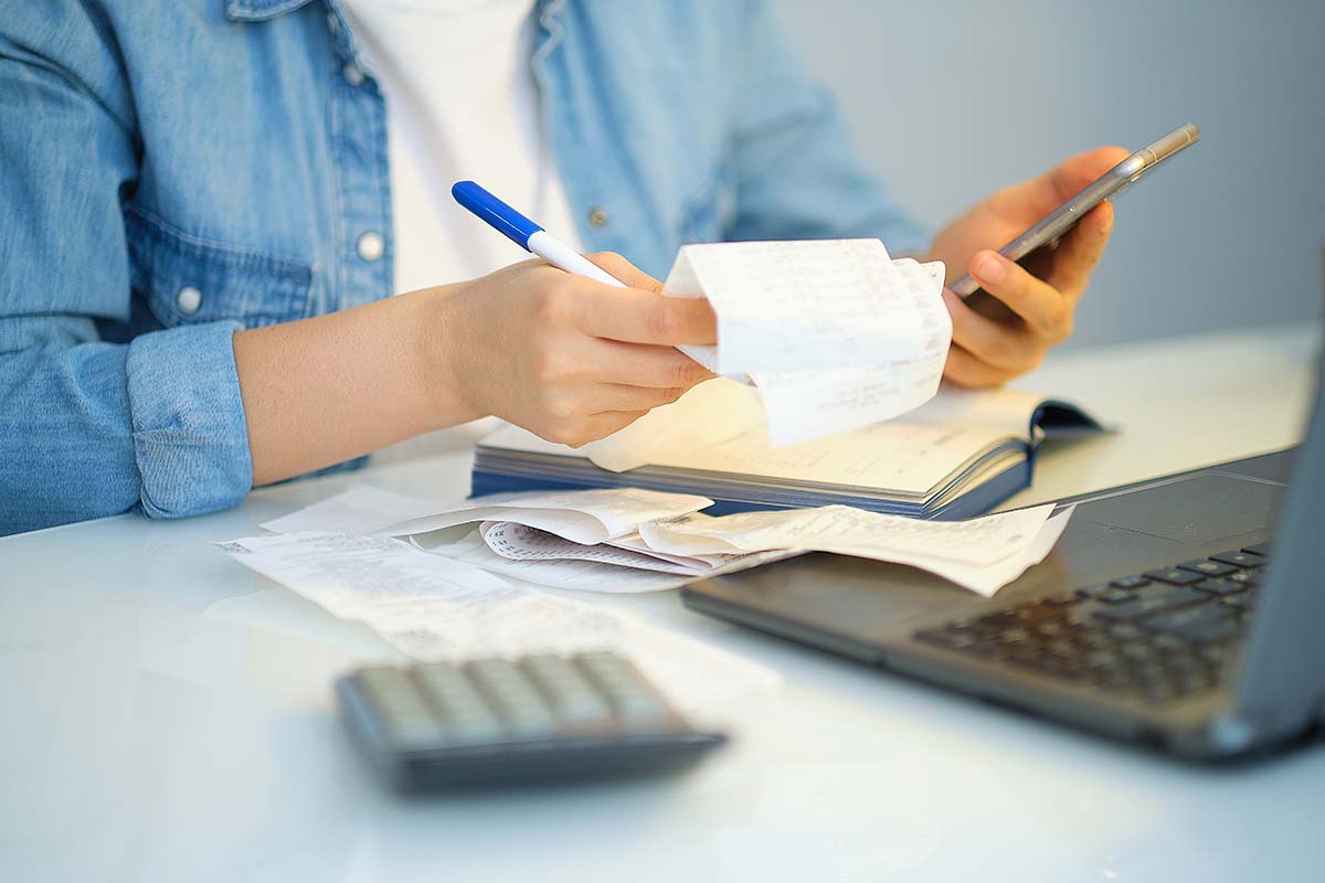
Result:
{"label": "open black laptop with dark keyboard, partly covered by receipts", "polygon": [[[1222,761],[1325,727],[1325,398],[1297,449],[1084,495],[992,600],[806,555],[686,606],[1063,724]],[[1277,527],[1276,527],[1277,523]]]}

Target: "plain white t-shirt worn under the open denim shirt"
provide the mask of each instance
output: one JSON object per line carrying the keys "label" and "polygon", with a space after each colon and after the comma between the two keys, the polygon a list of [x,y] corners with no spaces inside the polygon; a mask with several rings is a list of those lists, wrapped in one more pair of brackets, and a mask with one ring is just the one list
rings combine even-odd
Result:
{"label": "plain white t-shirt worn under the open denim shirt", "polygon": [[[530,69],[530,0],[344,0],[360,54],[387,99],[394,293],[486,275],[529,253],[460,208],[474,180],[579,248],[570,203],[539,124]],[[354,75],[356,71],[347,71]],[[412,438],[374,454],[395,462],[472,445],[496,421]]]}

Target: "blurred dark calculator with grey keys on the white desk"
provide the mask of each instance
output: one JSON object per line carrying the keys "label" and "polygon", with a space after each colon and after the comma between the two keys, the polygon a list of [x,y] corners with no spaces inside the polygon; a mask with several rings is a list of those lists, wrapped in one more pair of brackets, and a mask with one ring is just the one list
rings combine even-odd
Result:
{"label": "blurred dark calculator with grey keys on the white desk", "polygon": [[337,695],[355,744],[405,793],[662,773],[726,741],[606,651],[360,669]]}

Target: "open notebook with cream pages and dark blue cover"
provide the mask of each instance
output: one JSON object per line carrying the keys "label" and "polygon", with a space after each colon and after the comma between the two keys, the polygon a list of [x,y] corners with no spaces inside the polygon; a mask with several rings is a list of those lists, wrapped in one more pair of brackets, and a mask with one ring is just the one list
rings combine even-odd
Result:
{"label": "open notebook with cream pages and dark blue cover", "polygon": [[710,515],[837,503],[958,519],[1030,486],[1045,438],[1102,430],[1076,405],[1034,393],[945,388],[897,420],[770,447],[758,408],[737,387],[702,384],[578,450],[506,426],[480,442],[472,491],[644,487],[709,496]]}

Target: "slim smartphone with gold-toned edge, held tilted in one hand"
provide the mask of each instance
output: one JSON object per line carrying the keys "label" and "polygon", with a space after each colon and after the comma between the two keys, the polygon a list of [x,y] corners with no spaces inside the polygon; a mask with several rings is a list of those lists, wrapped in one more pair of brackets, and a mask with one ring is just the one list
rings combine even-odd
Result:
{"label": "slim smartphone with gold-toned edge, held tilted in one hand", "polygon": [[[1022,263],[1043,248],[1056,248],[1059,240],[1076,226],[1077,221],[1085,217],[1086,212],[1104,200],[1117,199],[1120,193],[1132,187],[1137,179],[1151,168],[1199,140],[1199,128],[1191,123],[1179,126],[1086,184],[1080,193],[1045,214],[1028,230],[999,249],[999,254],[1010,261]],[[994,295],[984,291],[980,283],[970,275],[963,275],[947,287],[963,298],[977,312],[1000,319],[1012,315],[1011,310],[1003,306]]]}

